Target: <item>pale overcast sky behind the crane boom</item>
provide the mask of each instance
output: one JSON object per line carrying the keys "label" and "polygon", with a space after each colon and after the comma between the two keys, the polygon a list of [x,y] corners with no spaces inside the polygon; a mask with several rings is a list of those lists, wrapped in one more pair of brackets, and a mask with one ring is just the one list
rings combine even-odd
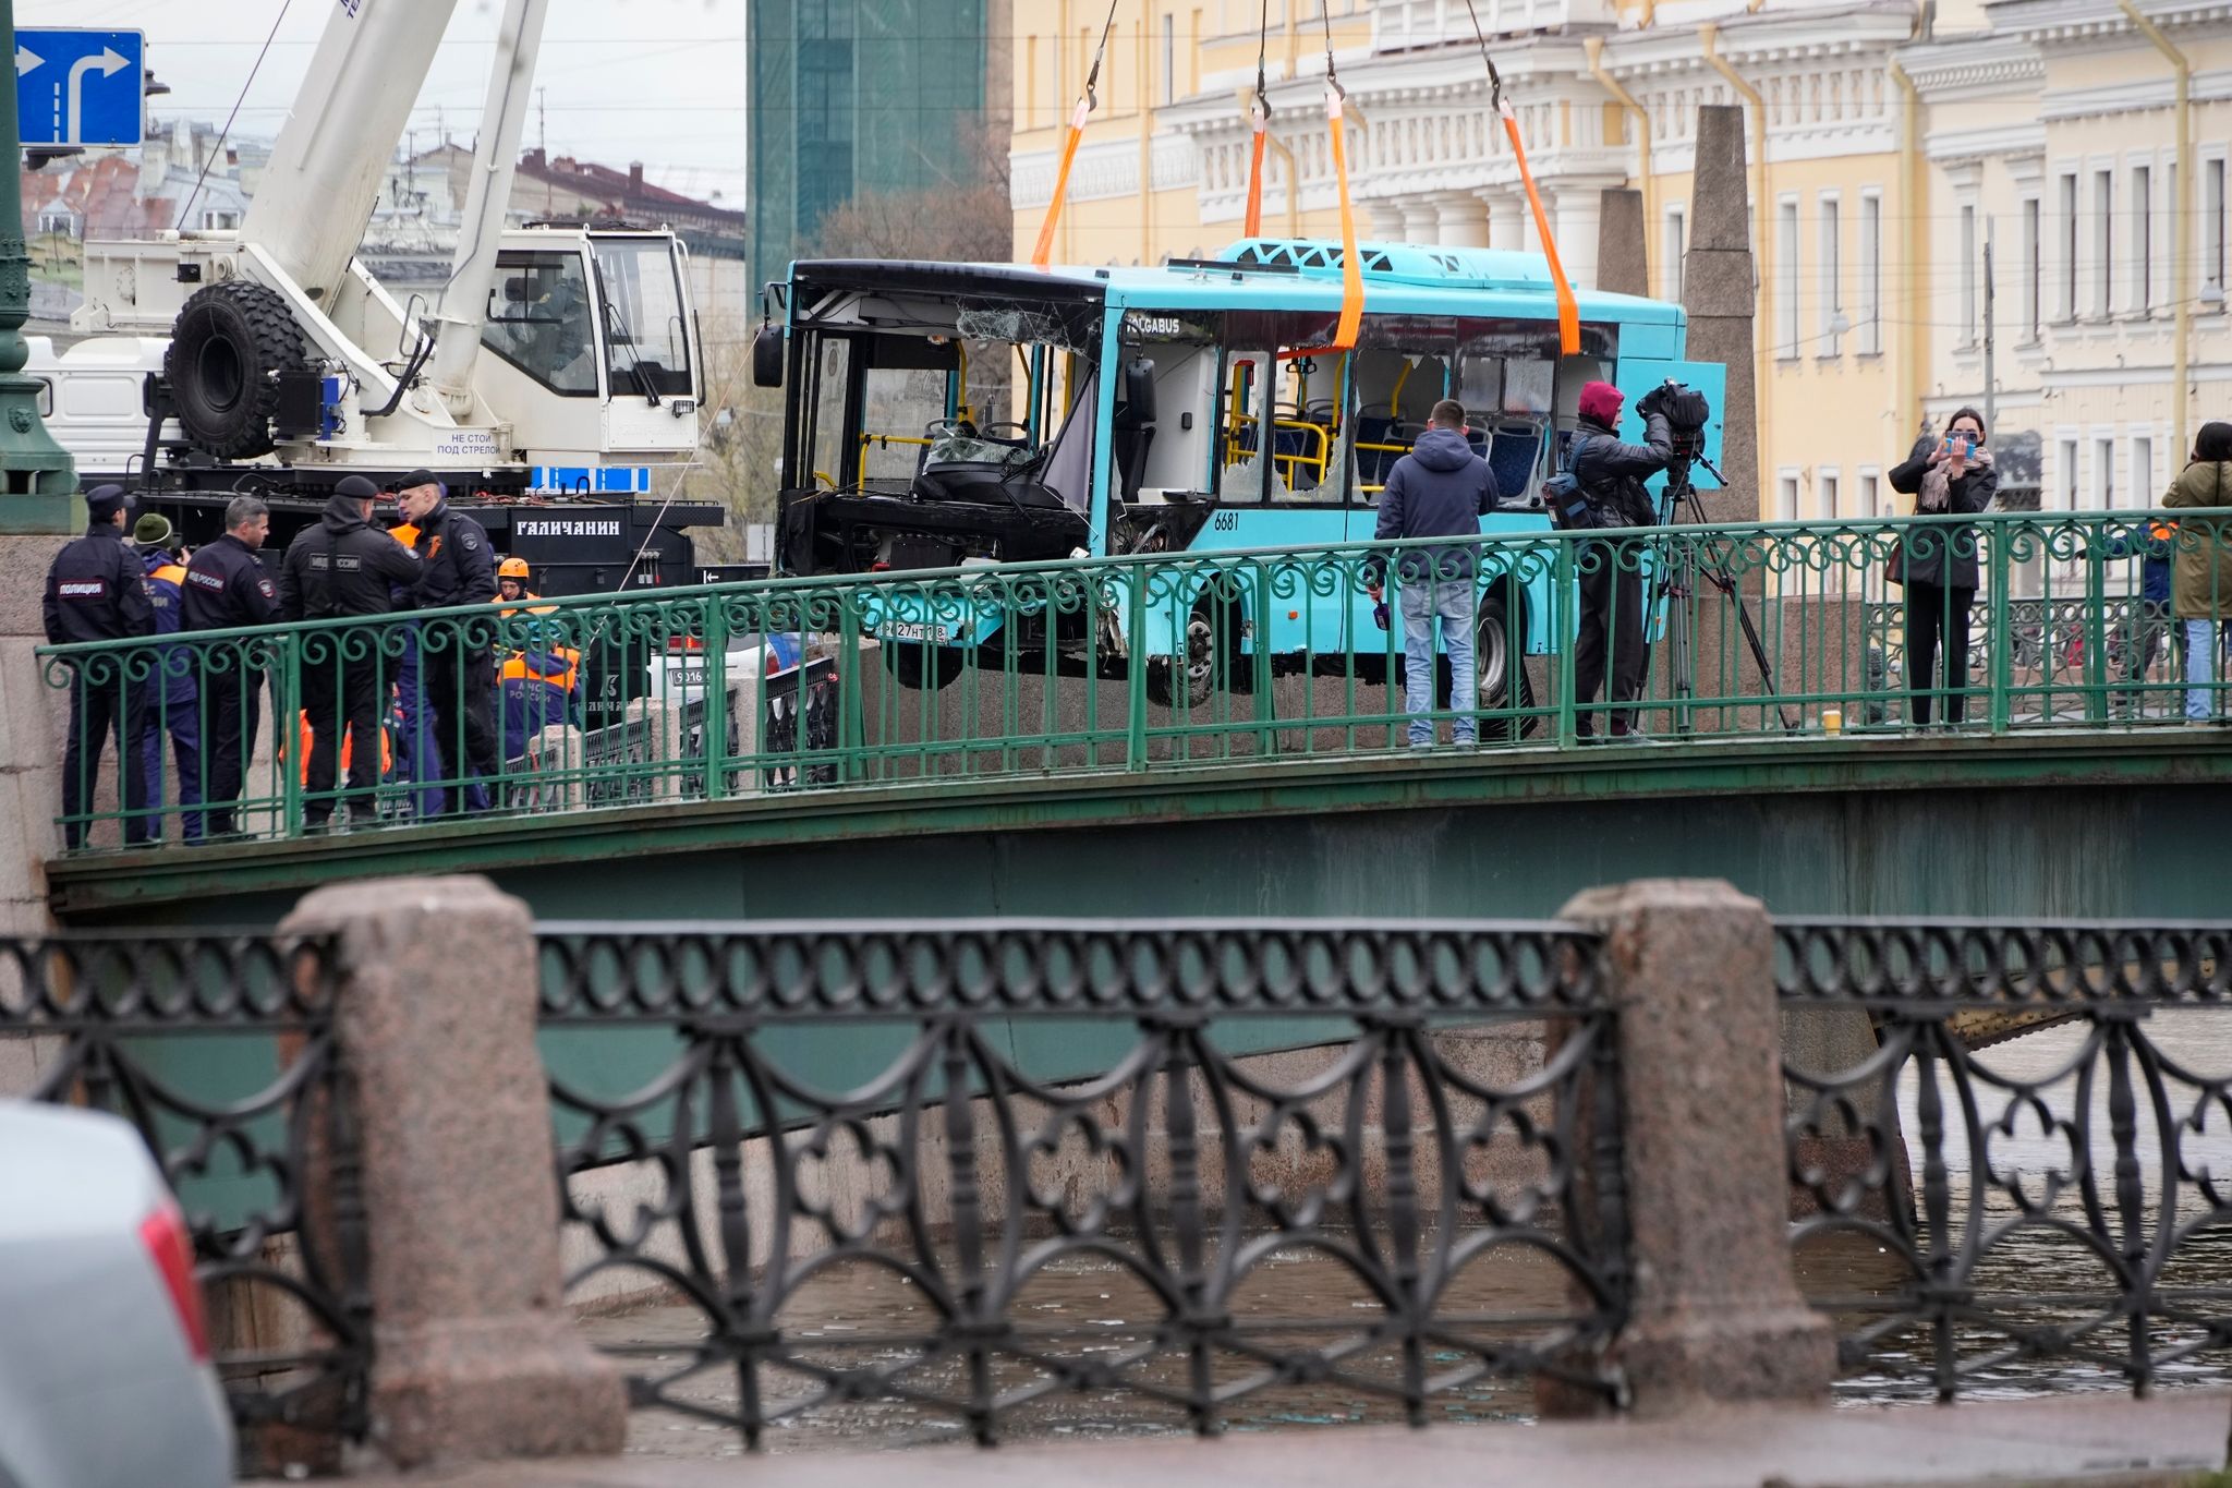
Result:
{"label": "pale overcast sky behind the crane boom", "polygon": [[[270,138],[335,9],[337,0],[16,0],[16,25],[145,31],[147,62],[170,85],[156,118],[223,125],[241,100],[234,134]],[[411,116],[420,149],[437,129],[473,138],[502,13],[502,0],[458,0]],[[250,83],[275,22],[277,40]],[[547,129],[554,156],[620,170],[643,161],[658,185],[741,205],[743,80],[743,0],[551,0],[536,62],[545,114],[529,112],[525,145]]]}

